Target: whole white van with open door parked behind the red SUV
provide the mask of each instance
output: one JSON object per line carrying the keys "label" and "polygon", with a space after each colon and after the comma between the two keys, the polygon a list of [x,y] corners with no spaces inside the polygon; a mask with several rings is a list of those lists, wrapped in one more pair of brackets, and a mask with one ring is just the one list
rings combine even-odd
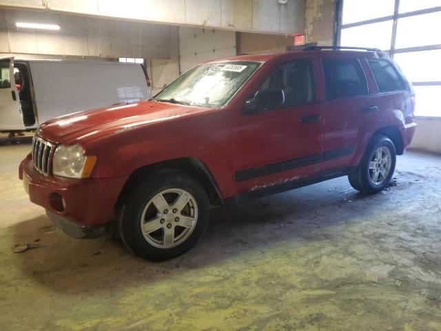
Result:
{"label": "whole white van with open door parked behind the red SUV", "polygon": [[0,59],[0,132],[34,130],[61,115],[151,97],[141,64]]}

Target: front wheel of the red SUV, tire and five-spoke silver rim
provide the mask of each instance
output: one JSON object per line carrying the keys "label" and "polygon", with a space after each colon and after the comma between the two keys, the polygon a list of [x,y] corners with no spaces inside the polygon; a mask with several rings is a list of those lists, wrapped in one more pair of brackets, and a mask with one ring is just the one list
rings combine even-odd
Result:
{"label": "front wheel of the red SUV, tire and five-spoke silver rim", "polygon": [[158,172],[130,194],[119,218],[119,232],[131,252],[161,261],[192,248],[208,219],[209,200],[198,181],[183,172]]}

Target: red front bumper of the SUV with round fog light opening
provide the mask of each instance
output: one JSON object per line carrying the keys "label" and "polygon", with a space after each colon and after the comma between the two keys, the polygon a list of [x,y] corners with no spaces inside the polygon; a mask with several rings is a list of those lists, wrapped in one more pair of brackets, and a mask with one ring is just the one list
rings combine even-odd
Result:
{"label": "red front bumper of the SUV with round fog light opening", "polygon": [[67,179],[43,176],[30,155],[19,168],[30,201],[45,208],[48,217],[74,238],[98,237],[114,217],[114,205],[127,177]]}

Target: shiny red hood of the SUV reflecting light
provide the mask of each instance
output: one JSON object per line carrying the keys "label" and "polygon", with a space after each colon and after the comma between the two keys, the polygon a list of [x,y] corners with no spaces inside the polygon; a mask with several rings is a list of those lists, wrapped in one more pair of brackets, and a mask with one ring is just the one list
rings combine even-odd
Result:
{"label": "shiny red hood of the SUV reflecting light", "polygon": [[143,101],[57,117],[41,124],[37,134],[56,143],[74,143],[208,110],[211,109]]}

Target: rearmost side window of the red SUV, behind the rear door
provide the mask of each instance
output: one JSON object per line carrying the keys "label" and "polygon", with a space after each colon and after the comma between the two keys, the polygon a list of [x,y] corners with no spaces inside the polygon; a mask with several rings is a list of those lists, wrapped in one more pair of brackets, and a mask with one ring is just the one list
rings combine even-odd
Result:
{"label": "rearmost side window of the red SUV, behind the rear door", "polygon": [[380,92],[402,91],[405,89],[402,79],[389,61],[369,61],[369,66],[371,66]]}

